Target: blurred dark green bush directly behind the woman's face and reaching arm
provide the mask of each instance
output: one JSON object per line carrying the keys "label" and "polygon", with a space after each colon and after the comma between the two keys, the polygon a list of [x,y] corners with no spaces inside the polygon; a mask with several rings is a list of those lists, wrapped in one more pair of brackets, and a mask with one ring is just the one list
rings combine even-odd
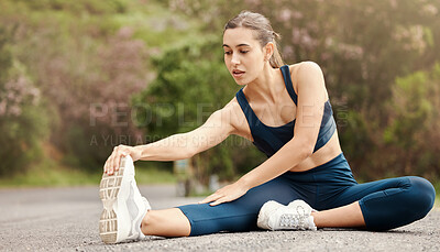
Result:
{"label": "blurred dark green bush directly behind the woman's face and reaching arm", "polygon": [[[147,110],[138,118],[148,122],[148,131],[167,135],[193,130],[231,99],[235,87],[222,64],[219,41],[189,41],[153,59],[157,77],[141,97]],[[135,101],[135,106],[143,103]]]}

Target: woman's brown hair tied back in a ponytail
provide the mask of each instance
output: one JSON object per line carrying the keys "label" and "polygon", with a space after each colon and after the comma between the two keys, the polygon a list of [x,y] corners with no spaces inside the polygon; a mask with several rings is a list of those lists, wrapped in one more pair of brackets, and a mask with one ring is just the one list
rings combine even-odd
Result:
{"label": "woman's brown hair tied back in a ponytail", "polygon": [[280,39],[280,35],[272,29],[271,22],[264,15],[254,13],[251,11],[242,11],[233,19],[228,21],[224,25],[223,33],[228,29],[234,28],[248,28],[256,32],[256,40],[261,46],[264,47],[268,42],[274,43],[274,53],[270,58],[270,64],[273,68],[278,68],[284,65],[282,55],[278,52],[278,43],[276,39]]}

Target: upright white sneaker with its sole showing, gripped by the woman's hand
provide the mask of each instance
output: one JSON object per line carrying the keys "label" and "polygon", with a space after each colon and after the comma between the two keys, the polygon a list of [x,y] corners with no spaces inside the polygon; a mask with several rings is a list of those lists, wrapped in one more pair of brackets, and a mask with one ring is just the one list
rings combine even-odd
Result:
{"label": "upright white sneaker with its sole showing, gripped by the woman's hand", "polygon": [[145,238],[141,222],[151,206],[138,189],[130,155],[121,158],[120,168],[113,175],[102,175],[99,197],[103,205],[99,234],[105,243]]}

